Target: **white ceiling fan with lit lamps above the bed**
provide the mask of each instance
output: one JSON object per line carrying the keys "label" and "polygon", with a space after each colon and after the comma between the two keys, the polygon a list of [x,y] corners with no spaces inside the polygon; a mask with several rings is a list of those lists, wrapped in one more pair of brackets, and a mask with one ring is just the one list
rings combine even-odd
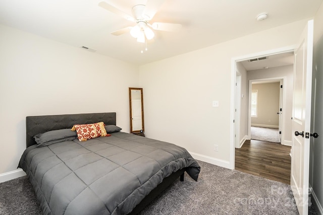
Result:
{"label": "white ceiling fan with lit lamps above the bed", "polygon": [[136,22],[136,25],[134,26],[128,26],[116,30],[111,34],[119,36],[121,34],[130,32],[131,36],[137,38],[137,42],[144,43],[146,39],[150,40],[154,37],[154,32],[152,31],[152,29],[159,31],[176,31],[182,27],[181,24],[174,23],[149,23],[150,20],[152,20],[153,16],[156,14],[159,7],[164,3],[164,1],[165,0],[147,0],[146,5],[135,5],[131,10],[132,16],[126,14],[123,11],[120,11],[113,5],[106,2],[100,2],[98,6],[114,14],[117,14],[129,21]]}

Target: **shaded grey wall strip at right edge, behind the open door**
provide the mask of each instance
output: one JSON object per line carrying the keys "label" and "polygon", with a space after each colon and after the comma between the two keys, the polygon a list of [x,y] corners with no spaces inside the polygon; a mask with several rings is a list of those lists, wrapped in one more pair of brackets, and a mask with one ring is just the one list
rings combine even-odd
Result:
{"label": "shaded grey wall strip at right edge, behind the open door", "polygon": [[314,18],[313,49],[313,93],[311,133],[318,133],[318,138],[310,139],[310,174],[309,184],[320,214],[323,214],[323,4]]}

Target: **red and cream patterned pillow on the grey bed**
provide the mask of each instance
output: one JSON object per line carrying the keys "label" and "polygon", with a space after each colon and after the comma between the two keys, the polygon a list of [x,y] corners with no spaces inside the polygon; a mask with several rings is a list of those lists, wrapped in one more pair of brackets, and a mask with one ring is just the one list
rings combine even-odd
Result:
{"label": "red and cream patterned pillow on the grey bed", "polygon": [[83,124],[83,125],[74,125],[71,129],[76,131],[79,141],[86,141],[87,139],[95,137],[107,137],[111,136],[106,133],[104,128],[104,123],[93,123],[93,124]]}

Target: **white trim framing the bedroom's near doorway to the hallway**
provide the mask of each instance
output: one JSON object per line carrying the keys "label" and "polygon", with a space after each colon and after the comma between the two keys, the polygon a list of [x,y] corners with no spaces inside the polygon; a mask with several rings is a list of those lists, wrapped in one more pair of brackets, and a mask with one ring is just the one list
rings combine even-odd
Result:
{"label": "white trim framing the bedroom's near doorway to the hallway", "polygon": [[[237,63],[241,61],[250,60],[253,58],[277,55],[279,53],[294,51],[296,45],[285,46],[281,48],[261,51],[257,53],[250,53],[245,56],[235,57],[231,59],[231,95],[230,95],[230,165],[229,168],[235,169],[235,98],[236,98],[236,81],[237,81]],[[238,120],[240,122],[240,120]]]}

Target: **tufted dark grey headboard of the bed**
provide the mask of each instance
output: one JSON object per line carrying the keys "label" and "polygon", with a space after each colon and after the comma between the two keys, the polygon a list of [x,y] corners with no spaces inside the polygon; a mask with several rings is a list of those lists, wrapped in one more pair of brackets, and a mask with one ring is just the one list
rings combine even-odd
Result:
{"label": "tufted dark grey headboard of the bed", "polygon": [[105,125],[116,125],[116,113],[66,114],[26,117],[26,146],[36,144],[34,135],[51,130],[72,128],[75,124],[104,122]]}

